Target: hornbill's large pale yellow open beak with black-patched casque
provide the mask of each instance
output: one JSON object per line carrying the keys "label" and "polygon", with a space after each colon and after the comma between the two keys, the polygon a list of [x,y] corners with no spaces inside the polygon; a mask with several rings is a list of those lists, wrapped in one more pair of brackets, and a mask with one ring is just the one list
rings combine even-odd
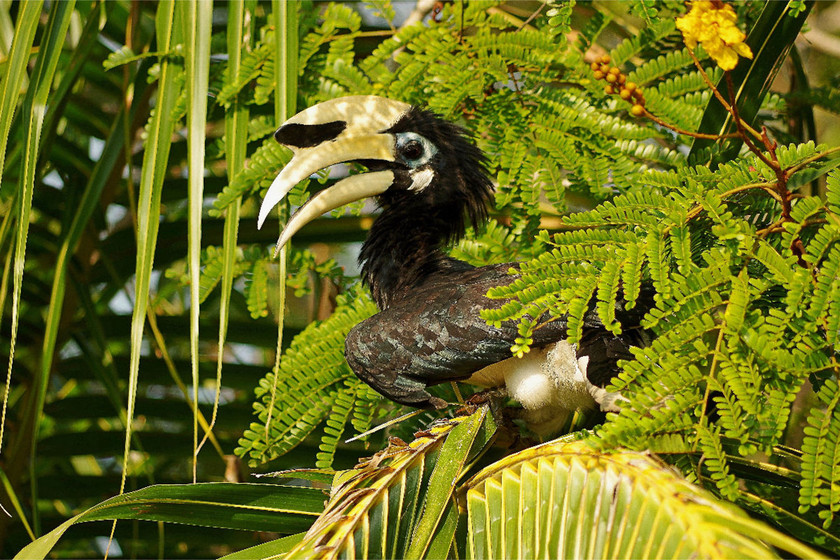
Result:
{"label": "hornbill's large pale yellow open beak with black-patched casque", "polygon": [[[340,97],[309,107],[283,123],[275,138],[291,148],[294,156],[265,193],[257,228],[292,187],[318,170],[353,160],[394,161],[396,139],[385,131],[409,108],[384,97]],[[277,249],[307,222],[349,202],[380,195],[393,181],[392,171],[375,171],[352,175],[319,192],[286,223]]]}

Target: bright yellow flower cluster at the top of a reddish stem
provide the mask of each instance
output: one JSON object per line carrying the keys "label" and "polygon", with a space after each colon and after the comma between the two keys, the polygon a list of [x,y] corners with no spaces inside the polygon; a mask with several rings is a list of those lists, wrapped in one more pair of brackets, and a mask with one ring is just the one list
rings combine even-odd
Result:
{"label": "bright yellow flower cluster at the top of a reddish stem", "polygon": [[700,43],[717,65],[732,70],[738,64],[738,55],[753,58],[753,51],[743,42],[746,35],[736,25],[737,19],[732,6],[720,0],[698,0],[691,3],[689,13],[677,18],[677,28],[690,49]]}

